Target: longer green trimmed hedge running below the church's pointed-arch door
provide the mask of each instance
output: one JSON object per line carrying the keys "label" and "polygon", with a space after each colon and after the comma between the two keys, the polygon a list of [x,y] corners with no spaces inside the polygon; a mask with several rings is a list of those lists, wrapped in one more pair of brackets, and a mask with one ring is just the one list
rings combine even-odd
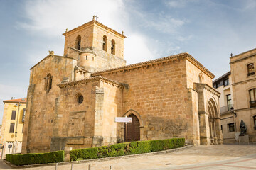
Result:
{"label": "longer green trimmed hedge running below the church's pointed-arch door", "polygon": [[70,160],[76,161],[78,158],[95,159],[102,157],[117,157],[127,154],[142,154],[166,149],[174,149],[177,147],[183,147],[184,145],[184,138],[119,143],[107,147],[104,146],[71,150]]}

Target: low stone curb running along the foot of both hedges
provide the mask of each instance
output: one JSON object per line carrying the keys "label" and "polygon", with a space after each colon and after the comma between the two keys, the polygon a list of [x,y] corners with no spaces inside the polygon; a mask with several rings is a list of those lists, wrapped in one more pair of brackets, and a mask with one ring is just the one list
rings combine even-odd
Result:
{"label": "low stone curb running along the foot of both hedges", "polygon": [[[144,154],[130,154],[130,155],[124,155],[124,156],[119,156],[119,157],[87,159],[87,160],[73,161],[73,162],[58,162],[58,166],[59,165],[67,165],[67,164],[82,164],[82,163],[88,163],[88,162],[103,162],[103,161],[109,161],[112,159],[127,159],[127,158],[131,158],[131,157],[146,157],[146,156],[156,155],[156,154],[167,154],[167,153],[171,153],[171,152],[178,152],[178,151],[181,151],[184,149],[188,149],[193,146],[194,145],[187,145],[185,147],[179,147],[179,148],[169,149],[169,150],[164,150],[164,151],[150,152],[150,153],[144,153]],[[17,165],[11,164],[11,162],[8,162],[6,160],[4,160],[4,162],[14,169],[33,168],[33,167],[40,167],[40,166],[55,166],[57,164],[57,163],[49,163],[49,164],[31,164],[31,165],[17,166]]]}

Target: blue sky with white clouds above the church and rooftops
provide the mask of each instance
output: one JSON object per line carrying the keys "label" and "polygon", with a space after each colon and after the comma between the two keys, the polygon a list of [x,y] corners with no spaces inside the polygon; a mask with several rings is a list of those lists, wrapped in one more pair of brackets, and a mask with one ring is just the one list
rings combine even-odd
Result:
{"label": "blue sky with white clouds above the church and rooftops", "polygon": [[0,0],[0,124],[3,100],[26,97],[30,68],[53,50],[63,55],[65,29],[99,16],[124,31],[127,64],[188,52],[216,77],[230,53],[256,47],[256,0]]}

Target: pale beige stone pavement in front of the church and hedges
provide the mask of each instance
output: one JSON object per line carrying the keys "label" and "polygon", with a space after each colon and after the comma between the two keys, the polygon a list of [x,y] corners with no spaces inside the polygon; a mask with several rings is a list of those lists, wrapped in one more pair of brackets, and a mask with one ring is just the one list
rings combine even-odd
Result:
{"label": "pale beige stone pavement in front of the church and hedges", "polygon": [[[0,169],[4,168],[0,162]],[[114,159],[103,162],[73,164],[73,170],[110,169],[256,169],[256,145],[210,145],[196,146],[178,152]],[[6,166],[7,167],[7,166]],[[58,169],[70,170],[71,165]],[[5,168],[4,168],[5,169]],[[30,170],[54,170],[55,166],[28,168]]]}

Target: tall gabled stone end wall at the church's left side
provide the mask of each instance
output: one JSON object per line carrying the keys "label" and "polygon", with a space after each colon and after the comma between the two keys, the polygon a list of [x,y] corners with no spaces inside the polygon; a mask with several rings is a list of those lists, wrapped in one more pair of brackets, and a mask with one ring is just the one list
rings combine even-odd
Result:
{"label": "tall gabled stone end wall at the church's left side", "polygon": [[[31,68],[27,95],[27,112],[23,132],[22,152],[50,150],[53,127],[58,126],[60,84],[63,78],[73,79],[75,60],[49,55]],[[46,76],[53,76],[52,88],[46,91]]]}

